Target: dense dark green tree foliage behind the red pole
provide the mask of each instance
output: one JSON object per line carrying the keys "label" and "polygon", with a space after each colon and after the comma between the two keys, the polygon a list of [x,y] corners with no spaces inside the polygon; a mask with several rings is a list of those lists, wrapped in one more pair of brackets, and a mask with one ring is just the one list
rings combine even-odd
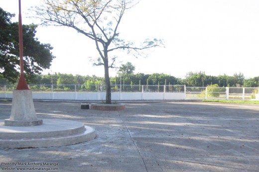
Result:
{"label": "dense dark green tree foliage behind the red pole", "polygon": [[[0,8],[0,78],[15,83],[19,76],[19,36],[18,22],[11,22],[14,14]],[[35,38],[37,25],[22,25],[23,63],[28,82],[34,80],[35,74],[49,69],[55,58],[50,44],[42,44]]]}

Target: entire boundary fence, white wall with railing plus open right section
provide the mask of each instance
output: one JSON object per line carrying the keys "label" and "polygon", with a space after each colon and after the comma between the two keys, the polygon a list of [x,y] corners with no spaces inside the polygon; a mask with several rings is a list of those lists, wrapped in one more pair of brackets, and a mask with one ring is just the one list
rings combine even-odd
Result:
{"label": "entire boundary fence, white wall with railing plus open right section", "polygon": [[[92,87],[90,87],[92,86]],[[16,86],[0,86],[0,98],[12,98]],[[102,85],[30,85],[33,99],[101,100],[106,99]],[[42,89],[44,87],[44,89]],[[63,87],[62,89],[60,87]],[[68,89],[68,87],[70,87]],[[73,90],[71,90],[73,88]],[[89,89],[89,90],[86,90]],[[91,90],[92,89],[92,90]],[[94,90],[93,90],[94,89]],[[259,100],[259,88],[247,87],[187,87],[187,86],[113,86],[112,100],[193,100],[241,99]]]}

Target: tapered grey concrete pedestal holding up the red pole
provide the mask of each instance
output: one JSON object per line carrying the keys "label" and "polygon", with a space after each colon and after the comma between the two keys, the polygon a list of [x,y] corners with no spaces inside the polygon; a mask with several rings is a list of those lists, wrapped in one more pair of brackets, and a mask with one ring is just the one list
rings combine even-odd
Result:
{"label": "tapered grey concrete pedestal holding up the red pole", "polygon": [[13,90],[12,107],[9,119],[4,120],[5,126],[35,126],[42,125],[42,119],[37,119],[30,89]]}

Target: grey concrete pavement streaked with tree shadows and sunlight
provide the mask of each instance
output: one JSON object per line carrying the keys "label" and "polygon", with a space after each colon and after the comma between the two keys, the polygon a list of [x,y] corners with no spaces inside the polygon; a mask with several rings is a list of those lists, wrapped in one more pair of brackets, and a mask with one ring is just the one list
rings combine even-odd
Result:
{"label": "grey concrete pavement streaked with tree shadows and sunlight", "polygon": [[[97,137],[71,146],[1,149],[0,171],[259,171],[259,105],[130,102],[124,111],[83,110],[80,102],[34,106],[39,118],[81,121]],[[10,110],[11,102],[0,101],[0,119],[9,118]]]}

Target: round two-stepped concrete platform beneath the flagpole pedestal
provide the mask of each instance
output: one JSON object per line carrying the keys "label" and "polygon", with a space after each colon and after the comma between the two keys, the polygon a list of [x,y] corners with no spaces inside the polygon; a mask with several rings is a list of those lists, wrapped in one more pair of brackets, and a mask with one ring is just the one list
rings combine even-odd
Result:
{"label": "round two-stepped concrete platform beneath the flagpole pedestal", "polygon": [[39,126],[4,126],[0,120],[0,148],[30,148],[73,145],[94,139],[95,129],[82,122],[43,119]]}

